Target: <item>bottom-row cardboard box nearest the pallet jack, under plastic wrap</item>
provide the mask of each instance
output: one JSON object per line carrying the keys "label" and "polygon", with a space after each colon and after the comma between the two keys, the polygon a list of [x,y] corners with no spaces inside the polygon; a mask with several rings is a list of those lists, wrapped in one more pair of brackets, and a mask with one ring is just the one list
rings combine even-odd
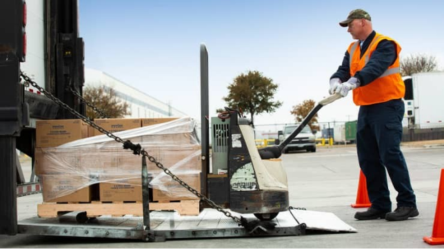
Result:
{"label": "bottom-row cardboard box nearest the pallet jack, under plastic wrap", "polygon": [[[200,174],[185,174],[177,175],[183,182],[186,182],[196,191],[201,192],[201,177]],[[169,175],[161,177],[159,184],[155,184],[152,189],[153,201],[179,201],[186,199],[199,199],[193,193],[184,188],[179,182],[172,180]],[[159,185],[159,187],[156,187]],[[160,189],[159,189],[160,188]],[[161,190],[162,189],[162,190]],[[165,191],[163,191],[165,189]]]}

